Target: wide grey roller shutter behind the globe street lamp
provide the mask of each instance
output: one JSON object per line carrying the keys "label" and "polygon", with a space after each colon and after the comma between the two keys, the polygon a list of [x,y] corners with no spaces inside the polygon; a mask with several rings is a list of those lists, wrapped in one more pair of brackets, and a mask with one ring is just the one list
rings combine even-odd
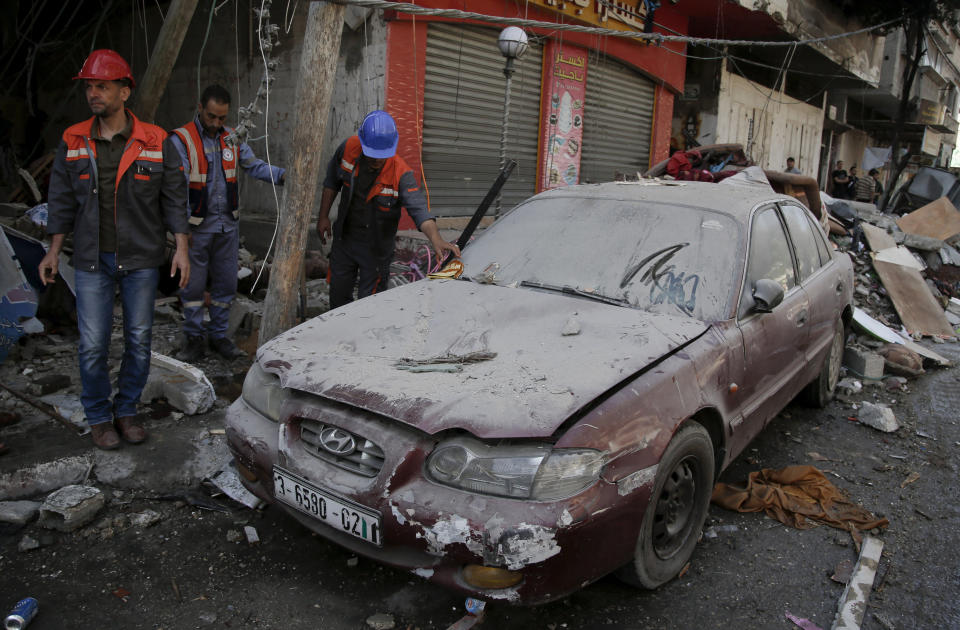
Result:
{"label": "wide grey roller shutter behind the globe street lamp", "polygon": [[[423,170],[430,206],[438,216],[471,215],[500,170],[500,31],[437,23],[427,33]],[[503,189],[504,210],[536,188],[541,57],[542,47],[531,42],[515,66],[506,153],[517,168]]]}

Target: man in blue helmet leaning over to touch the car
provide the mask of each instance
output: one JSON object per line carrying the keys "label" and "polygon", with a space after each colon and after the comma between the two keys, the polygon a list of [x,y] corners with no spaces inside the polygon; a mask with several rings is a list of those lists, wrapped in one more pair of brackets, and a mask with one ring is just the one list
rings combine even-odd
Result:
{"label": "man in blue helmet leaning over to touch the car", "polygon": [[[357,135],[337,149],[327,165],[320,200],[317,234],[323,243],[333,234],[330,251],[330,308],[386,287],[393,260],[400,208],[417,224],[437,252],[460,255],[460,249],[440,237],[437,222],[413,170],[397,155],[397,125],[387,112],[367,114]],[[331,227],[330,208],[337,193],[340,208]]]}

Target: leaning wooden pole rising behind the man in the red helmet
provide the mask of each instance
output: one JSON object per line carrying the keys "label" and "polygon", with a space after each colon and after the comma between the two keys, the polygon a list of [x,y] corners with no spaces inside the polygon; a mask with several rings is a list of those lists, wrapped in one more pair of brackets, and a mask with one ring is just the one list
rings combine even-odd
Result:
{"label": "leaning wooden pole rising behind the man in the red helmet", "polygon": [[153,52],[150,54],[150,64],[134,92],[137,94],[135,111],[137,117],[144,122],[153,122],[160,97],[167,89],[170,72],[180,55],[180,46],[187,35],[187,27],[190,26],[196,8],[197,0],[173,0],[167,9],[157,43],[153,45]]}

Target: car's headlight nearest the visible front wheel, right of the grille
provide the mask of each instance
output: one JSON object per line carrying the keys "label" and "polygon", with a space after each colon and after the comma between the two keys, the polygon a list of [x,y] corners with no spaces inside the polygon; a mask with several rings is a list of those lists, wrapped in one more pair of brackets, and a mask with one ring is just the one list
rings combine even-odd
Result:
{"label": "car's headlight nearest the visible front wheel, right of the grille", "polygon": [[427,472],[439,483],[471,492],[555,501],[596,482],[603,464],[603,454],[592,449],[488,446],[456,438],[434,449],[427,459]]}

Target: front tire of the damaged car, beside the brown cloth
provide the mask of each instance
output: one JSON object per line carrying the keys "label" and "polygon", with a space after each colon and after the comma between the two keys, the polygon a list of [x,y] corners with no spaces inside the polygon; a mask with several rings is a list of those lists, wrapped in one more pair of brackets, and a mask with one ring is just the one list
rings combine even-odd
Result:
{"label": "front tire of the damaged car, beside the brown cloth", "polygon": [[713,475],[710,434],[700,424],[688,423],[660,459],[633,561],[618,574],[623,581],[655,589],[686,566],[707,517]]}

